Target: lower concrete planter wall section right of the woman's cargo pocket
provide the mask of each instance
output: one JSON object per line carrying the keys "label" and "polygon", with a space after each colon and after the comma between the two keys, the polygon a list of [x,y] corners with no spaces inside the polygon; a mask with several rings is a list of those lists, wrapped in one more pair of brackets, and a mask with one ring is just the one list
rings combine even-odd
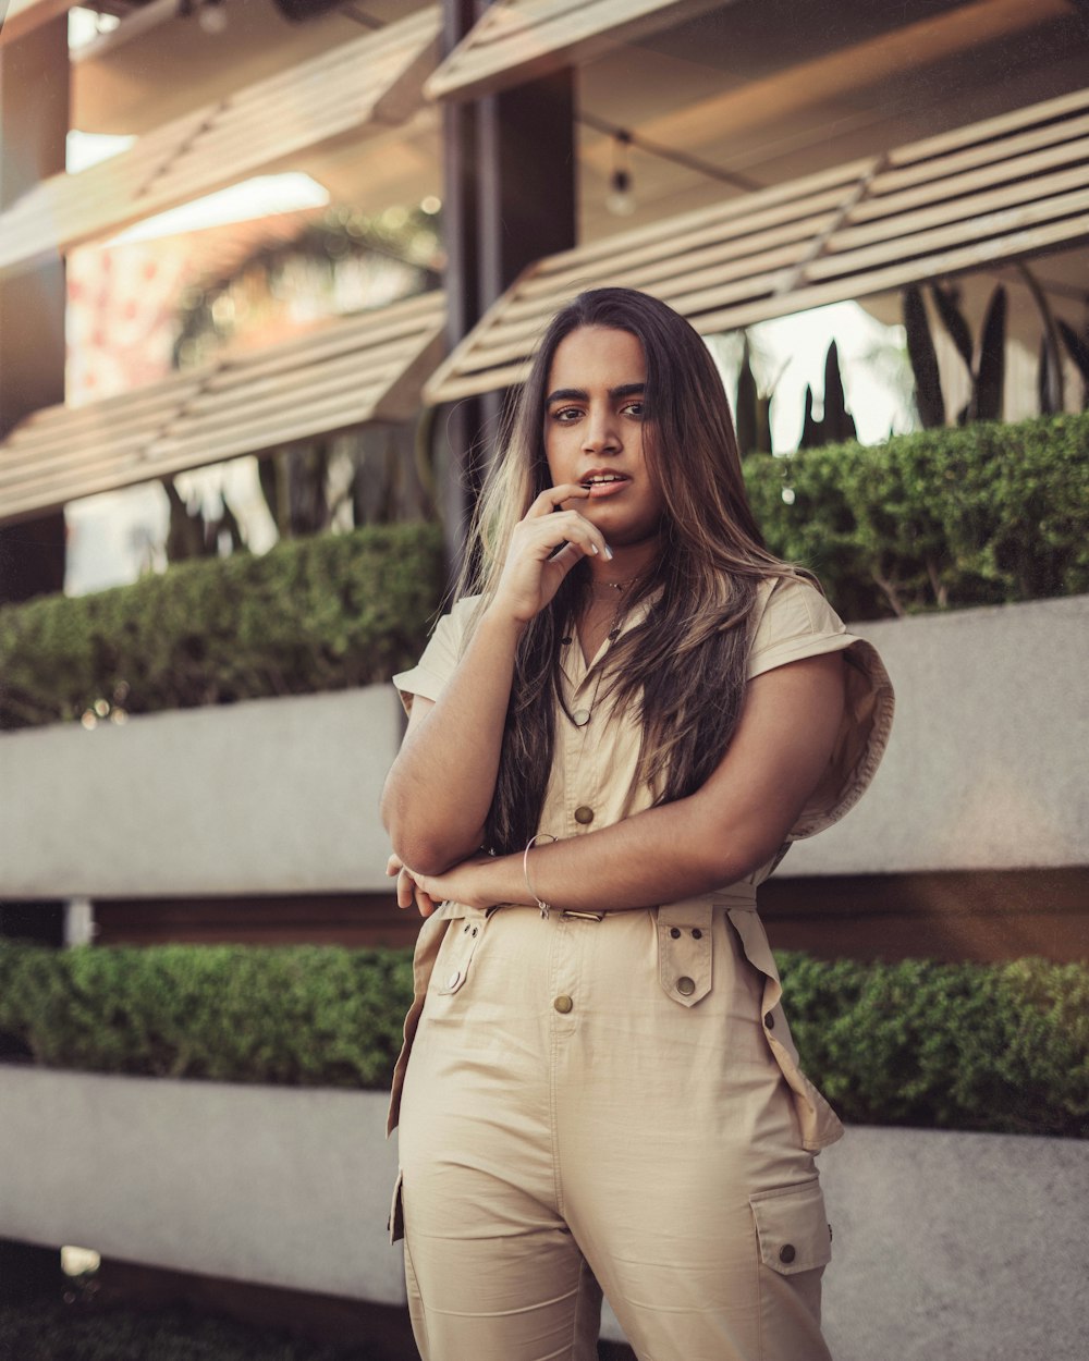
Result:
{"label": "lower concrete planter wall section right of the woman's cargo pocket", "polygon": [[1084,1361],[1089,1142],[856,1127],[819,1166],[836,1361]]}

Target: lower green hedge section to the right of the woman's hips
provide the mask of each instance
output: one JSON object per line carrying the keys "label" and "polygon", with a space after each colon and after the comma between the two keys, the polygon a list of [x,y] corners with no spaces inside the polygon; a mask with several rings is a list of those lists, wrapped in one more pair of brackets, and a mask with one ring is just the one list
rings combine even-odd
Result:
{"label": "lower green hedge section to the right of the woman's hips", "polygon": [[779,960],[806,1072],[845,1120],[1089,1138],[1089,966]]}

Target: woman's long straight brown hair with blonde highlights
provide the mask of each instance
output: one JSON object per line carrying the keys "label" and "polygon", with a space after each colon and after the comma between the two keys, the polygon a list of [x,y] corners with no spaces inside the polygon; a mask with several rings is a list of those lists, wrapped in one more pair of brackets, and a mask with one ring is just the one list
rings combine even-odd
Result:
{"label": "woman's long straight brown hair with blonde highlights", "polygon": [[[633,289],[592,289],[558,312],[508,414],[485,483],[459,595],[491,599],[515,525],[551,478],[544,395],[557,346],[580,327],[630,332],[647,359],[644,450],[662,490],[662,553],[626,608],[645,619],[607,656],[606,690],[634,705],[643,728],[638,776],[655,803],[694,793],[726,753],[741,716],[757,585],[799,573],[764,547],[745,494],[730,403],[706,346],[666,304]],[[668,476],[663,476],[668,468]],[[486,845],[520,851],[538,830],[562,710],[561,638],[573,633],[588,592],[579,563],[523,633]],[[550,830],[550,829],[543,829]]]}

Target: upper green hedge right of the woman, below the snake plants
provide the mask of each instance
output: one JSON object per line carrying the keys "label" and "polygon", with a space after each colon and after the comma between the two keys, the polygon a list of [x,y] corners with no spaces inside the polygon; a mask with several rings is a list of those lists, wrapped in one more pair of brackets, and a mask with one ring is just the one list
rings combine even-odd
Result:
{"label": "upper green hedge right of the woman, below the snake plants", "polygon": [[768,546],[848,619],[1089,591],[1089,415],[753,455],[745,476]]}

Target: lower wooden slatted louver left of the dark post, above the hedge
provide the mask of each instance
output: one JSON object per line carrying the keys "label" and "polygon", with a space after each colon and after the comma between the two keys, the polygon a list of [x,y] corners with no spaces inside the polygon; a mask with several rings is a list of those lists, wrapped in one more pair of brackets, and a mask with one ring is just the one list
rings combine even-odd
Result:
{"label": "lower wooden slatted louver left of the dark post, above the hedge", "polygon": [[34,412],[0,445],[0,523],[78,497],[403,419],[438,358],[441,294],[406,299],[152,388]]}

